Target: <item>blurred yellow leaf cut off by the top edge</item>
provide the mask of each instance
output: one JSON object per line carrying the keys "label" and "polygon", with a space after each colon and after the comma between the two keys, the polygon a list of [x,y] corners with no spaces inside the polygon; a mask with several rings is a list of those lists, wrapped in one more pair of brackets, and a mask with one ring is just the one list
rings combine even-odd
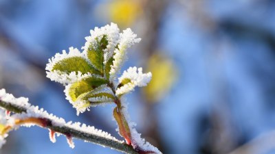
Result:
{"label": "blurred yellow leaf cut off by the top edge", "polygon": [[140,14],[140,3],[135,0],[115,0],[109,4],[111,21],[129,27]]}

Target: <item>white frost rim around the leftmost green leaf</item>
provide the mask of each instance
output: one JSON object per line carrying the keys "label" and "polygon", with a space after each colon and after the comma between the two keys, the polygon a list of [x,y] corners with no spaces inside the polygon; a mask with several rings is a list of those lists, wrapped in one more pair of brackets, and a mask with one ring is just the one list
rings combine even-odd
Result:
{"label": "white frost rim around the leftmost green leaf", "polygon": [[54,55],[52,59],[49,59],[49,63],[46,65],[47,77],[50,78],[52,81],[56,81],[61,84],[71,84],[75,81],[79,81],[80,79],[89,77],[91,75],[89,73],[82,74],[80,72],[72,72],[67,74],[67,73],[61,72],[60,70],[52,71],[56,63],[61,62],[61,60],[64,60],[65,58],[69,58],[69,57],[82,57],[89,64],[91,64],[91,62],[89,62],[89,60],[87,59],[84,53],[80,53],[78,49],[74,47],[70,47],[69,53],[66,53],[66,51],[63,50],[62,53],[56,53],[56,55]]}

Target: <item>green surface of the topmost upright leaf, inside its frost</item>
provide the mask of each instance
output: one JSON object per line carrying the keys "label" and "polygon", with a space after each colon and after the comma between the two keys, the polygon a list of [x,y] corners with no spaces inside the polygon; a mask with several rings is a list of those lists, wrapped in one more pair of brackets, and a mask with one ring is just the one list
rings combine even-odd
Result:
{"label": "green surface of the topmost upright leaf, inside its frost", "polygon": [[103,74],[103,62],[104,62],[104,52],[103,50],[107,48],[108,45],[108,40],[107,36],[104,35],[101,40],[98,40],[96,38],[96,46],[97,47],[92,47],[90,46],[88,51],[87,51],[87,56],[89,60],[91,61],[91,64],[94,64],[96,69],[100,71],[100,73]]}

